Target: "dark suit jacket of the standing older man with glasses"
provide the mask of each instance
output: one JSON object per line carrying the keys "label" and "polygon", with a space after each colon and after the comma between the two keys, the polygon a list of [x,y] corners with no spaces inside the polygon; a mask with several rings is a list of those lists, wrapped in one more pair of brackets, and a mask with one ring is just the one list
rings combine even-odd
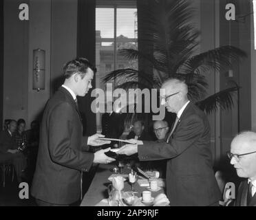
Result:
{"label": "dark suit jacket of the standing older man with glasses", "polygon": [[189,102],[169,143],[143,142],[140,160],[167,160],[167,197],[171,206],[209,206],[220,200],[213,172],[210,126],[204,112]]}

